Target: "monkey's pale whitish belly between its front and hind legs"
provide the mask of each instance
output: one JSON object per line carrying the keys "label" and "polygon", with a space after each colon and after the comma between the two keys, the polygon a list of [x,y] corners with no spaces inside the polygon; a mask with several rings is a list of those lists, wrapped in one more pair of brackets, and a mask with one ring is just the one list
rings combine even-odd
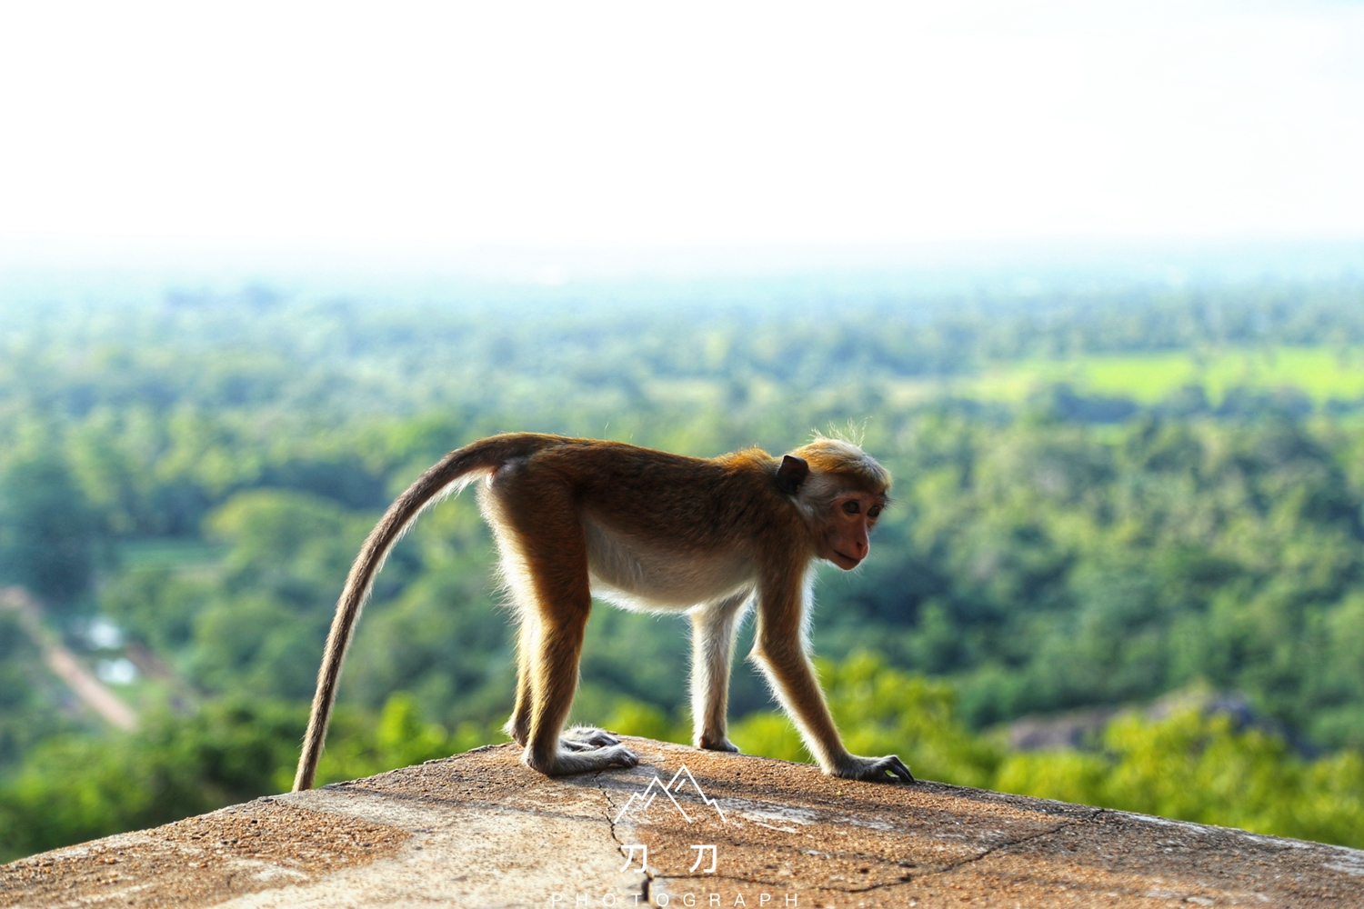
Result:
{"label": "monkey's pale whitish belly between its front and hind legs", "polygon": [[592,593],[627,609],[687,609],[752,586],[753,571],[735,553],[681,553],[647,546],[587,522]]}

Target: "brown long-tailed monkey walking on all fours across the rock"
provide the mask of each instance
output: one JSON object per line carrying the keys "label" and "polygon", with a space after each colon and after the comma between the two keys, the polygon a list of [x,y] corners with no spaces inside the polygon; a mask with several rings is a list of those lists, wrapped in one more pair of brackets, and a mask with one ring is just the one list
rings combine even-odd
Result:
{"label": "brown long-tailed monkey walking on all fours across the rock", "polygon": [[693,744],[738,748],[727,735],[730,665],[741,620],[756,615],[752,657],[827,774],[915,782],[896,755],[843,747],[810,664],[816,560],[851,571],[888,504],[891,477],[859,447],[814,442],[776,459],[758,448],[702,459],[619,442],[539,433],[490,436],[423,473],[370,533],[346,576],[327,636],[293,781],[312,786],[341,662],[389,552],[424,508],[466,485],[501,556],[520,620],[506,733],[546,775],[633,767],[621,739],[563,730],[593,594],[626,609],[692,620]]}

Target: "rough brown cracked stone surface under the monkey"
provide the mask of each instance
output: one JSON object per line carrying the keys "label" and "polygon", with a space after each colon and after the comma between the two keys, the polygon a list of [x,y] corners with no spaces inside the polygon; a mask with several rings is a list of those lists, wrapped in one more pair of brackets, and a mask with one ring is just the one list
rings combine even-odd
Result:
{"label": "rough brown cracked stone surface under the monkey", "polygon": [[0,906],[1364,906],[1353,849],[630,744],[630,771],[501,745],[57,849],[0,868]]}

